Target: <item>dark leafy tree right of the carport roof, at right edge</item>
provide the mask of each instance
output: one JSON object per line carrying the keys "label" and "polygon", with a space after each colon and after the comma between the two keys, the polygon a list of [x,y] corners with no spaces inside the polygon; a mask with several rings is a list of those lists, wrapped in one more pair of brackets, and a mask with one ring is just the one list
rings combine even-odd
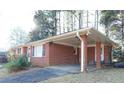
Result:
{"label": "dark leafy tree right of the carport roof, at right edge", "polygon": [[121,43],[122,55],[124,52],[124,12],[123,10],[102,11],[101,24],[106,28],[106,35],[119,40]]}

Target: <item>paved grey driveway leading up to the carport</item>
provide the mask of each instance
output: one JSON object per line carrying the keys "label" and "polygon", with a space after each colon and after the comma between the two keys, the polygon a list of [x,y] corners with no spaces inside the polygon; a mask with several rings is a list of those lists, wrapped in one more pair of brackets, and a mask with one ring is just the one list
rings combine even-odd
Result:
{"label": "paved grey driveway leading up to the carport", "polygon": [[80,72],[79,65],[58,65],[45,68],[35,68],[24,73],[19,73],[0,79],[0,83],[35,83],[50,78]]}

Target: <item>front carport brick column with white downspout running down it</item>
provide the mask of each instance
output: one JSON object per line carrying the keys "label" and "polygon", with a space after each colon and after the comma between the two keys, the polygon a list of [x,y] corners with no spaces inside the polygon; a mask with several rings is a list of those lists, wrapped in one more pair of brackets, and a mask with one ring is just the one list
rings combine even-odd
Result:
{"label": "front carport brick column with white downspout running down it", "polygon": [[87,71],[87,36],[81,36],[81,72]]}

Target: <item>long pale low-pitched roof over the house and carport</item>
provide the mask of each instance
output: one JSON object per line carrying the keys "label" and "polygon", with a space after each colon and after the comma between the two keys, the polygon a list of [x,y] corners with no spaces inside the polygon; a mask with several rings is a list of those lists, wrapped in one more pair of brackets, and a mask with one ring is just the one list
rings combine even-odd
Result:
{"label": "long pale low-pitched roof over the house and carport", "polygon": [[[117,46],[117,43],[115,43],[114,41],[112,41],[111,39],[107,38],[104,34],[102,34],[100,31],[94,29],[94,28],[85,28],[85,29],[80,29],[80,30],[76,30],[76,31],[72,31],[72,32],[67,32],[61,35],[57,35],[57,36],[52,36],[52,37],[48,37],[46,39],[43,40],[38,40],[38,41],[34,41],[34,42],[30,42],[30,43],[26,43],[23,45],[20,45],[18,47],[22,47],[22,46],[30,46],[30,45],[38,45],[38,44],[44,44],[47,42],[61,42],[61,41],[67,41],[68,39],[72,39],[72,38],[76,38],[77,39],[77,32],[79,32],[80,35],[88,35],[89,38],[89,42],[91,43],[92,41],[100,41],[103,43],[107,43],[107,44],[111,44],[113,46]],[[74,42],[71,41],[71,42]],[[79,40],[76,42],[80,42]]]}

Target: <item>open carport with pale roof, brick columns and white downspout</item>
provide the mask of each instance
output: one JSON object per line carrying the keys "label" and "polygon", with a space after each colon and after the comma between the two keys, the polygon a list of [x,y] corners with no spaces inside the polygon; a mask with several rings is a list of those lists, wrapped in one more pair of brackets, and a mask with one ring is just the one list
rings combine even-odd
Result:
{"label": "open carport with pale roof, brick columns and white downspout", "polygon": [[112,40],[93,28],[68,32],[53,37],[49,41],[74,47],[75,54],[79,58],[81,72],[87,71],[89,64],[94,64],[97,69],[100,69],[102,61],[104,61],[104,64],[110,63],[111,50],[116,45]]}

